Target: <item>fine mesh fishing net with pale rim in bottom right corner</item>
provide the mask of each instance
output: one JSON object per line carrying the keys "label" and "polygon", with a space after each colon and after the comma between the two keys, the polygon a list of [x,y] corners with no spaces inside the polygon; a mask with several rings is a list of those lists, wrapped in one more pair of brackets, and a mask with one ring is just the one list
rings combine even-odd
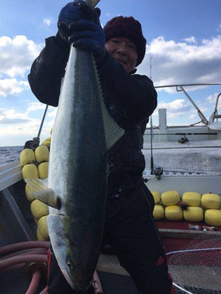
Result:
{"label": "fine mesh fishing net with pale rim in bottom right corner", "polygon": [[177,294],[221,294],[221,236],[201,235],[167,258]]}

